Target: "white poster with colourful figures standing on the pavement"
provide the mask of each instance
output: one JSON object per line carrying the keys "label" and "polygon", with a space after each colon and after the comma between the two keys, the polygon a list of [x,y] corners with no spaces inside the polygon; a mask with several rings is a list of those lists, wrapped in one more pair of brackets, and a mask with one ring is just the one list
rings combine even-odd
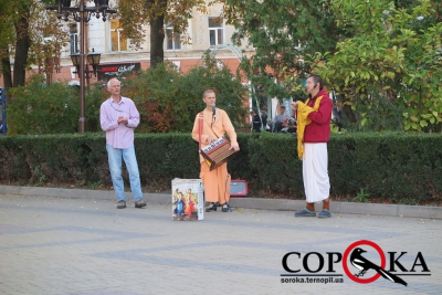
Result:
{"label": "white poster with colourful figures standing on the pavement", "polygon": [[201,179],[172,179],[172,218],[179,221],[204,219]]}

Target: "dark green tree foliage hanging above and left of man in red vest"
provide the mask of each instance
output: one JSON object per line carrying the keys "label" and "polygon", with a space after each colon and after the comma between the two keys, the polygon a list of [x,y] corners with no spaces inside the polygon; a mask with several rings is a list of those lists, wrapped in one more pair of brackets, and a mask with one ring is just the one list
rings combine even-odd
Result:
{"label": "dark green tree foliage hanging above and left of man in red vest", "polygon": [[[266,86],[266,93],[288,97],[291,91],[280,82],[303,76],[309,69],[306,54],[333,52],[340,31],[335,24],[333,1],[324,0],[225,0],[224,17],[234,24],[232,41],[255,49],[242,67],[253,81]],[[272,72],[274,80],[264,73]],[[299,85],[299,84],[298,84]],[[299,87],[298,87],[299,88]],[[297,88],[297,89],[298,89]]]}

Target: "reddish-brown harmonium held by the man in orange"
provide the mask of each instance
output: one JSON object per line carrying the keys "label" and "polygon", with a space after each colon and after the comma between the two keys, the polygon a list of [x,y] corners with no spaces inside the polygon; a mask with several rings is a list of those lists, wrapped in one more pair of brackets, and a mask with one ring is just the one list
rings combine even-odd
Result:
{"label": "reddish-brown harmonium held by the man in orange", "polygon": [[223,136],[218,138],[213,144],[200,150],[201,156],[209,165],[210,170],[229,161],[235,154],[231,148],[230,141]]}

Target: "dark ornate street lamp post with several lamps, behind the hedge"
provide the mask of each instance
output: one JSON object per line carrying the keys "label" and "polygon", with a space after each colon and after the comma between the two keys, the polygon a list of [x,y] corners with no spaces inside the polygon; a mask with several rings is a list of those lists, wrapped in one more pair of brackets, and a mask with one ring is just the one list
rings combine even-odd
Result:
{"label": "dark ornate street lamp post with several lamps, behind the hedge", "polygon": [[[86,131],[86,118],[84,117],[85,109],[85,75],[91,73],[88,69],[85,69],[84,59],[84,24],[91,20],[91,17],[95,15],[97,19],[102,18],[106,21],[107,14],[115,13],[115,10],[108,9],[109,0],[94,0],[94,7],[85,6],[85,0],[80,0],[78,7],[71,7],[71,0],[55,0],[55,7],[46,7],[48,10],[55,10],[57,12],[59,20],[64,19],[69,21],[72,14],[73,19],[80,23],[80,65],[76,65],[77,74],[80,76],[80,120],[78,131]],[[91,54],[90,54],[91,55]],[[96,55],[96,54],[95,54]],[[74,60],[73,56],[71,56]],[[99,63],[99,57],[98,57]],[[74,64],[75,65],[75,64]],[[93,63],[93,72],[96,75],[96,65]]]}

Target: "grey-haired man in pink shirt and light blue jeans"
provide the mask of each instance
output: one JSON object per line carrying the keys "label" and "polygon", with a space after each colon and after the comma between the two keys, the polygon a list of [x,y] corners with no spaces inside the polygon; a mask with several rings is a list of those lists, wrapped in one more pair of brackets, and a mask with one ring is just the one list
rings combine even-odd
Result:
{"label": "grey-haired man in pink shirt and light blue jeans", "polygon": [[110,97],[99,108],[102,129],[106,131],[106,149],[112,182],[117,196],[117,209],[126,208],[126,196],[122,177],[122,158],[129,172],[130,190],[135,208],[146,207],[143,200],[137,158],[134,147],[134,128],[139,124],[139,113],[130,98],[120,95],[120,82],[110,78],[107,83]]}

